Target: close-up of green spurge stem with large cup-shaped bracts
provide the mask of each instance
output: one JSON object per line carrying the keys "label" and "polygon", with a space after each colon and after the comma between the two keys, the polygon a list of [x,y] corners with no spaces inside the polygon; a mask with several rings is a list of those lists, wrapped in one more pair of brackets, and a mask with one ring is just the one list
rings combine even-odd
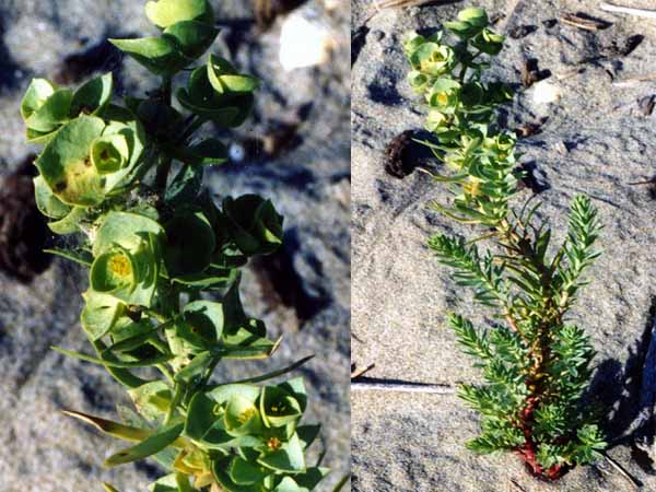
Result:
{"label": "close-up of green spurge stem with large cup-shaped bracts", "polygon": [[[327,470],[305,461],[319,426],[301,424],[303,380],[256,384],[307,359],[211,379],[220,363],[268,358],[279,343],[245,314],[239,270],[281,244],[282,218],[255,195],[218,207],[202,176],[227,161],[226,148],[195,137],[206,122],[242,125],[258,81],[215,55],[195,66],[218,35],[207,0],[151,1],[145,12],[161,35],[112,42],[162,78],[159,91],[120,105],[112,74],[77,91],[36,79],[21,106],[28,141],[45,145],[35,162],[38,207],[55,233],[80,238],[55,253],[90,270],[81,324],[95,355],[57,350],[105,366],[137,410],[124,410],[121,423],[67,413],[137,442],[107,466],[152,457],[168,470],[153,492],[314,490]],[[175,95],[186,115],[173,106],[181,71],[187,82]],[[143,367],[152,370],[136,371]]]}

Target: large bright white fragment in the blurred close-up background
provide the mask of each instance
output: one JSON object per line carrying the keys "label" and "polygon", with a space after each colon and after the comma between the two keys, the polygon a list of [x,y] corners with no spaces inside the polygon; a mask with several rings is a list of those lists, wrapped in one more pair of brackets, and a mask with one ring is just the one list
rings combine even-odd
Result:
{"label": "large bright white fragment in the blurred close-up background", "polygon": [[319,22],[291,13],[280,33],[280,65],[285,71],[314,67],[330,59],[332,36]]}

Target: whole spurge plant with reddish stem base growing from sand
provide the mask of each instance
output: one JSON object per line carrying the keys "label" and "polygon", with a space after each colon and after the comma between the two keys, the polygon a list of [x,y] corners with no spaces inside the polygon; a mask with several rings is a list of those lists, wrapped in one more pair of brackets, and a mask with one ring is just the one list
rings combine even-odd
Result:
{"label": "whole spurge plant with reddish stem base growing from sand", "polygon": [[[482,9],[466,9],[445,34],[412,34],[403,48],[412,67],[410,85],[427,103],[425,141],[443,172],[430,171],[453,192],[450,203],[432,203],[446,218],[478,230],[478,237],[436,234],[429,246],[455,270],[457,285],[490,308],[487,329],[448,316],[465,353],[476,359],[482,384],[462,385],[459,396],[481,415],[481,433],[467,446],[478,453],[514,452],[536,476],[555,479],[590,464],[606,443],[583,401],[594,350],[567,313],[583,273],[599,255],[597,211],[584,196],[571,204],[569,233],[558,247],[532,196],[514,202],[523,177],[515,136],[495,124],[512,90],[484,81],[490,57],[504,38],[490,28]],[[489,247],[479,247],[487,242]]]}

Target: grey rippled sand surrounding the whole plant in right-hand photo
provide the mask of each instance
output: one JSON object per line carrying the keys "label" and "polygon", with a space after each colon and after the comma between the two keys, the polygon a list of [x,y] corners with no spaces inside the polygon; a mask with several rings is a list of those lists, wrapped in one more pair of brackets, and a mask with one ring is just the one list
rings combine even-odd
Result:
{"label": "grey rippled sand surrounding the whole plant in right-hand photo", "polygon": [[[649,0],[631,3],[654,7]],[[436,395],[353,388],[353,490],[634,490],[607,461],[547,484],[530,478],[513,456],[479,457],[464,447],[476,435],[478,420],[454,389],[479,375],[457,349],[444,317],[455,309],[483,323],[485,312],[472,308],[471,296],[454,289],[450,272],[431,257],[425,242],[432,233],[467,230],[429,210],[429,201],[444,201],[447,195],[425,175],[388,175],[385,150],[402,131],[422,128],[424,119],[405,80],[403,34],[438,28],[469,5],[501,16],[496,28],[504,34],[532,26],[529,34],[507,39],[490,73],[518,90],[514,104],[501,114],[508,128],[541,124],[538,133],[519,144],[539,191],[526,189],[518,201],[539,192],[557,239],[565,232],[574,195],[586,192],[599,209],[605,254],[572,315],[598,351],[590,400],[608,415],[608,455],[643,490],[656,490],[652,462],[633,446],[631,429],[641,410],[653,415],[652,407],[639,402],[643,374],[651,370],[644,364],[656,300],[656,195],[653,186],[632,183],[656,171],[656,116],[643,110],[656,94],[656,21],[605,13],[596,0],[437,1],[378,13],[373,2],[353,2],[352,359],[360,367],[375,364],[366,373],[368,383],[441,388]],[[566,13],[586,13],[609,25],[581,30],[561,21]],[[630,55],[618,55],[635,35],[643,36],[640,45]],[[537,103],[536,85],[522,87],[520,67],[529,59],[551,73],[546,82],[561,93],[558,101]],[[639,81],[643,77],[647,80]],[[652,419],[651,434],[653,424]]]}

